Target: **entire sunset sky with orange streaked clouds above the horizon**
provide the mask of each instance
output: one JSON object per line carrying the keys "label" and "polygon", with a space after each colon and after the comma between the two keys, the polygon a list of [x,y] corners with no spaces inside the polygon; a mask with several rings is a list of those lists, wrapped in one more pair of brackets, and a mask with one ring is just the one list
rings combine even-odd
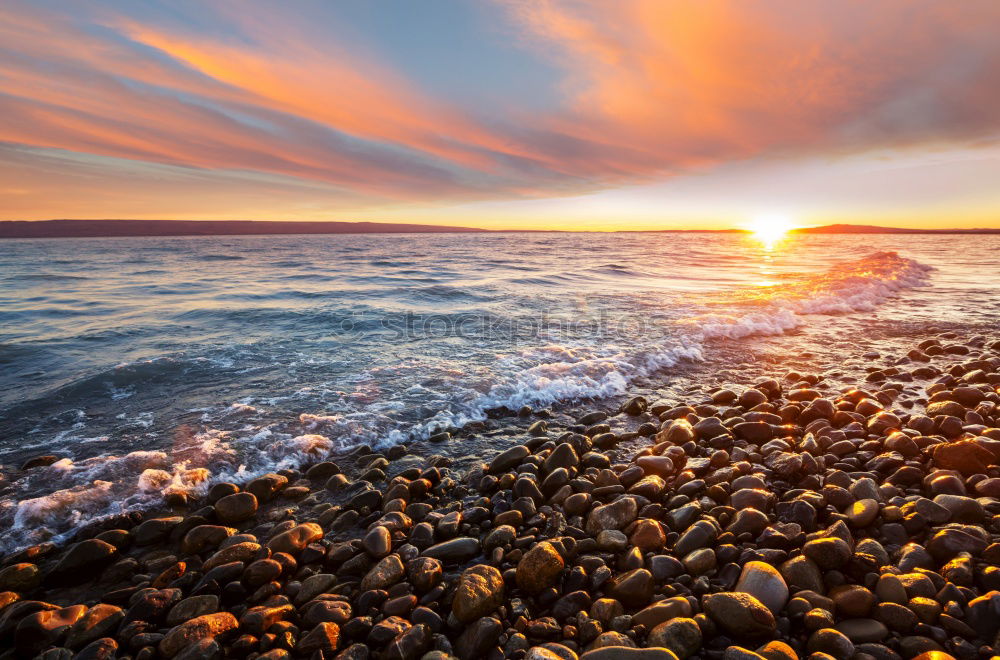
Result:
{"label": "entire sunset sky with orange streaked clouds above the horizon", "polygon": [[0,4],[0,219],[1000,227],[996,0]]}

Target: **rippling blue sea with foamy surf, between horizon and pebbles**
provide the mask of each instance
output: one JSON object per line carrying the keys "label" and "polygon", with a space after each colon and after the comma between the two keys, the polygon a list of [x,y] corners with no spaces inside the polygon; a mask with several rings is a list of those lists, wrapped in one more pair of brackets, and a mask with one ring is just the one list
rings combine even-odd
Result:
{"label": "rippling blue sea with foamy surf, between horizon and pebbles", "polygon": [[[989,332],[998,247],[688,233],[0,242],[0,549],[359,445],[450,430],[431,450],[474,453],[530,422],[525,406],[571,419],[630,393],[863,368],[872,347]],[[38,455],[58,460],[19,469]]]}

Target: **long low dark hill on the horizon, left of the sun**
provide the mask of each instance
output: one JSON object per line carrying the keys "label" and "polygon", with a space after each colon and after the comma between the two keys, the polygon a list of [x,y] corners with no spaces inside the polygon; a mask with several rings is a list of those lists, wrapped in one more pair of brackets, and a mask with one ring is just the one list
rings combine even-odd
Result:
{"label": "long low dark hill on the horizon, left of the sun", "polygon": [[12,220],[0,222],[0,238],[106,236],[238,236],[259,234],[441,234],[484,232],[391,222],[282,222],[258,220]]}

